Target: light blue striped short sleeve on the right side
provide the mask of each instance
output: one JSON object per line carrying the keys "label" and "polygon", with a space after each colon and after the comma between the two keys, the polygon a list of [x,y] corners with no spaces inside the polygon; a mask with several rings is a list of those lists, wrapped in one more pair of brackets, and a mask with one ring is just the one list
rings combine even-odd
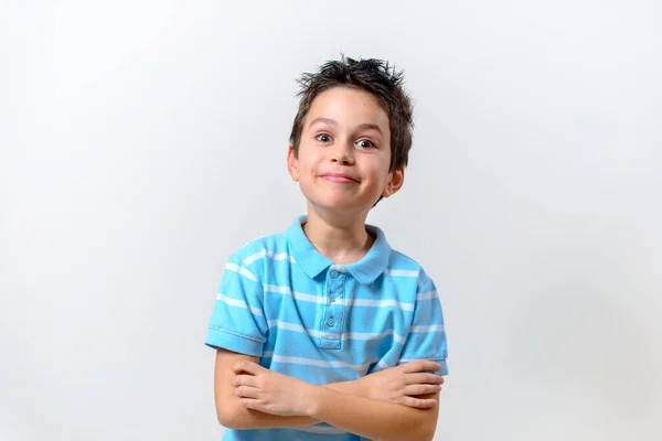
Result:
{"label": "light blue striped short sleeve on the right side", "polygon": [[441,370],[437,374],[448,375],[447,357],[448,348],[441,301],[433,280],[424,276],[416,292],[414,319],[398,363],[430,359],[441,365]]}

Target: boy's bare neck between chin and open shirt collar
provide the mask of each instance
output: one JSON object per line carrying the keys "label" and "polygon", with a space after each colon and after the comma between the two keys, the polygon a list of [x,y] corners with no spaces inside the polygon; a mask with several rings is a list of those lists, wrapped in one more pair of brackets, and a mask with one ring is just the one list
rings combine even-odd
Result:
{"label": "boy's bare neck between chin and open shirt collar", "polygon": [[308,220],[302,228],[321,255],[337,265],[349,265],[361,260],[375,241],[365,230],[365,217],[329,219],[308,209]]}

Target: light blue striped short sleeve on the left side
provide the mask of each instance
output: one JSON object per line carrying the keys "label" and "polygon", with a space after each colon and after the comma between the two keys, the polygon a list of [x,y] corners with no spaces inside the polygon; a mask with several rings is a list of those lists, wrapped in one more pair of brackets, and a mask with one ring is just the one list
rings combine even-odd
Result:
{"label": "light blue striped short sleeve on the left side", "polygon": [[260,357],[268,332],[263,301],[260,281],[233,255],[223,271],[204,344]]}

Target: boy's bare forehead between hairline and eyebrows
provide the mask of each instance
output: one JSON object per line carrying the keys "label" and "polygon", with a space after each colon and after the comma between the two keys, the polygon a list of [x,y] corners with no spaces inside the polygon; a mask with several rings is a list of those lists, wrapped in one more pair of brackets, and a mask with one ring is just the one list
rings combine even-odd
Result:
{"label": "boy's bare forehead between hairline and eyebrows", "polygon": [[337,125],[375,125],[388,130],[388,115],[378,99],[365,90],[333,87],[319,94],[306,116],[306,127],[312,122]]}

